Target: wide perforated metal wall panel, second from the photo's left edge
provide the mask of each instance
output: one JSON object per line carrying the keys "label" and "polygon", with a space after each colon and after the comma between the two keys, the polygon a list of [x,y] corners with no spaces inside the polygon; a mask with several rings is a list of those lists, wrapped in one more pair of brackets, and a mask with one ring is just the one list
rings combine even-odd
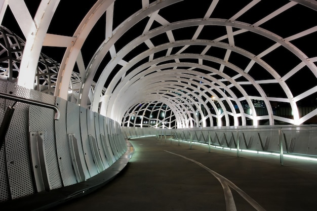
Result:
{"label": "wide perforated metal wall panel, second from the photo's left edge", "polygon": [[[13,83],[8,84],[7,93],[24,98],[30,96],[28,89],[18,87]],[[6,106],[12,106],[12,104],[13,101],[7,100]],[[28,116],[29,105],[17,103],[6,136],[6,159],[12,199],[35,192],[29,159]]]}

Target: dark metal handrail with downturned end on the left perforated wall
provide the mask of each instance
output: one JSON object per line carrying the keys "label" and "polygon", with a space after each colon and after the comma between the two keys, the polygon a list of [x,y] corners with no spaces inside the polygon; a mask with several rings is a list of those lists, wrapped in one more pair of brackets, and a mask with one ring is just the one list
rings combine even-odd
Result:
{"label": "dark metal handrail with downturned end on the left perforated wall", "polygon": [[43,102],[40,102],[40,101],[35,101],[35,100],[27,99],[27,98],[22,98],[22,97],[18,97],[18,96],[15,96],[15,95],[2,93],[2,92],[0,92],[0,98],[4,98],[4,99],[7,99],[7,100],[18,101],[18,102],[21,102],[21,103],[27,103],[27,104],[30,104],[30,105],[41,106],[41,107],[44,107],[44,108],[53,109],[55,111],[54,119],[55,120],[59,120],[60,112],[59,112],[58,108],[55,105],[51,105],[51,104],[48,104],[48,103],[43,103]]}

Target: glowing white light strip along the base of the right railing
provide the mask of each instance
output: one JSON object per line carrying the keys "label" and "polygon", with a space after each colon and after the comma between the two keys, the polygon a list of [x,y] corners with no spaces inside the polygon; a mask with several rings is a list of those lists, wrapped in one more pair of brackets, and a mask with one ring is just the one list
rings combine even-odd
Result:
{"label": "glowing white light strip along the base of the right railing", "polygon": [[[178,141],[176,139],[173,139],[174,141]],[[186,141],[186,140],[182,140],[182,141]],[[186,142],[190,142],[190,141],[186,141]],[[205,143],[200,143],[200,142],[191,142],[192,144],[201,144],[201,145],[205,145],[208,146],[208,144]],[[210,145],[210,147],[213,148],[217,148],[217,149],[225,149],[225,150],[231,150],[231,151],[236,151],[236,148],[228,148],[228,147],[220,147],[220,146],[216,146],[216,145]],[[280,153],[276,153],[276,152],[265,152],[265,151],[256,151],[256,150],[248,150],[248,149],[240,149],[240,152],[247,152],[247,153],[253,153],[253,154],[262,154],[262,155],[274,155],[274,156],[281,156]],[[299,156],[299,155],[291,155],[291,154],[283,154],[284,157],[289,157],[289,158],[294,158],[294,159],[300,159],[300,160],[310,160],[310,161],[316,161],[317,162],[317,158],[314,157],[305,157],[305,156]]]}

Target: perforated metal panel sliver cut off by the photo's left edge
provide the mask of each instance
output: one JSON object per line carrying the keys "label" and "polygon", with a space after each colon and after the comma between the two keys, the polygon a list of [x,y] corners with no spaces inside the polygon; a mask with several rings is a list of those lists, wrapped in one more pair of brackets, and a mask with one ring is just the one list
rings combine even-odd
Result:
{"label": "perforated metal panel sliver cut off by the photo's left edge", "polygon": [[[7,83],[0,81],[0,92],[7,93]],[[0,122],[2,123],[6,112],[6,100],[0,98]],[[7,201],[10,199],[9,179],[6,164],[6,150],[3,145],[0,150],[0,201]]]}

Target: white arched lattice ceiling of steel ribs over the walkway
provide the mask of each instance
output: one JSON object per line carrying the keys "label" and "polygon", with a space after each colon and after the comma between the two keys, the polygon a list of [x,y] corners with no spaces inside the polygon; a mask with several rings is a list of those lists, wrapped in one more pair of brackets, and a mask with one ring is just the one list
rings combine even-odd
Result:
{"label": "white arched lattice ceiling of steel ribs over the walkway", "polygon": [[77,103],[118,122],[152,102],[178,128],[317,115],[316,1],[86,2],[0,3],[2,25],[26,40],[18,85],[34,89],[42,51],[62,55],[54,95],[68,98],[76,72]]}

